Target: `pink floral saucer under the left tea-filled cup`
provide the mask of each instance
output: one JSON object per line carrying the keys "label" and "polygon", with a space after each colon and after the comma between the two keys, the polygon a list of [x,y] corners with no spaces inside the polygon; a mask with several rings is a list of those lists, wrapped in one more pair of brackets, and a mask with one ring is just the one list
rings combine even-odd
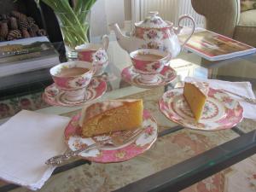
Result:
{"label": "pink floral saucer under the left tea-filled cup", "polygon": [[107,90],[107,83],[102,79],[91,79],[90,84],[86,88],[86,98],[83,101],[70,102],[65,99],[64,90],[59,90],[55,84],[49,85],[43,93],[44,102],[53,106],[75,107],[95,101],[104,95]]}

